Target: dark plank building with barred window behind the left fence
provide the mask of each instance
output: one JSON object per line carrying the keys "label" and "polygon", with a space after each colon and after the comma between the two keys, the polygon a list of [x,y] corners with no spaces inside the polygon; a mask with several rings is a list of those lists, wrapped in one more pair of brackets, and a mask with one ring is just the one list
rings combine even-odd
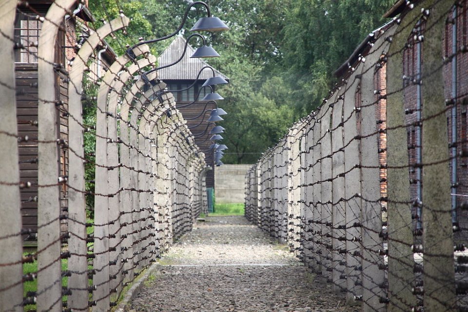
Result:
{"label": "dark plank building with barred window behind the left fence", "polygon": [[[17,120],[20,156],[20,180],[28,181],[21,188],[21,215],[24,231],[24,244],[35,245],[38,228],[38,41],[41,18],[45,17],[53,1],[19,1],[15,20],[15,72],[17,86]],[[76,18],[67,16],[55,45],[55,60],[59,77],[56,81],[56,107],[59,127],[58,149],[60,162],[57,164],[59,176],[68,175],[68,72],[76,55],[77,43],[86,40],[89,29],[87,22],[94,21],[88,8],[78,4],[74,8]],[[77,33],[81,35],[77,37]],[[115,55],[106,49],[102,55],[104,62],[112,62]],[[103,72],[103,71],[101,71]],[[62,214],[68,210],[68,192],[63,184],[60,192]],[[62,220],[61,230],[67,230],[66,220]]]}

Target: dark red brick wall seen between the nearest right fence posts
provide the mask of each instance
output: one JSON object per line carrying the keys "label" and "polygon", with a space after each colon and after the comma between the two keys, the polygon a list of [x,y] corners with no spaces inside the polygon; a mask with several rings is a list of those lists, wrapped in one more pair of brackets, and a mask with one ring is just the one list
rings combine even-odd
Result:
{"label": "dark red brick wall seen between the nearest right fence posts", "polygon": [[[468,133],[467,133],[467,104],[468,104],[468,54],[458,53],[456,55],[457,62],[457,94],[452,96],[452,26],[453,22],[457,25],[457,50],[461,46],[466,46],[468,43],[468,1],[460,1],[457,8],[457,19],[453,20],[452,12],[447,16],[447,23],[445,27],[445,36],[443,38],[441,49],[444,51],[444,56],[447,59],[444,65],[444,93],[445,98],[453,100],[456,104],[456,119],[457,119],[457,205],[460,207],[463,204],[468,204]],[[417,112],[417,44],[419,42],[418,36],[424,36],[424,23],[419,22],[414,26],[407,46],[403,52],[403,95],[405,101],[406,117],[405,123],[407,126],[408,135],[408,162],[409,162],[409,179],[410,179],[410,196],[411,200],[416,197],[416,171],[414,164],[416,163],[416,126]],[[421,43],[422,49],[422,66],[424,66],[424,41]],[[423,79],[424,80],[424,79]],[[424,83],[424,81],[423,81]],[[424,105],[424,95],[422,97],[422,105]],[[447,111],[447,127],[448,127],[448,141],[452,141],[452,119],[451,109]],[[451,161],[448,164],[449,170],[452,170]],[[424,186],[422,186],[424,187]],[[424,201],[424,199],[423,199]],[[412,208],[413,215],[416,214],[416,208]],[[468,227],[468,217],[466,213],[463,214],[462,210],[457,209],[458,222],[461,228]]]}

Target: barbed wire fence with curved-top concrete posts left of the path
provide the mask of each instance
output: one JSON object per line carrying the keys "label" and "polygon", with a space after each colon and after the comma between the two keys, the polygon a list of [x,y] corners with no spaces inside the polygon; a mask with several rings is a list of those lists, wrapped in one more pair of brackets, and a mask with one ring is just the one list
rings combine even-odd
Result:
{"label": "barbed wire fence with curved-top concrete posts left of the path", "polygon": [[[1,311],[110,310],[206,207],[203,153],[157,73],[148,75],[150,88],[140,79],[156,57],[147,45],[133,50],[135,59],[117,57],[97,82],[97,96],[90,93],[83,83],[98,46],[107,36],[118,42],[130,19],[120,10],[100,27],[84,22],[90,36],[80,42],[63,22],[76,18],[75,5],[56,0],[37,12],[28,2],[0,1]],[[38,41],[15,37],[19,14],[37,21]],[[70,43],[64,49],[56,48],[60,33]],[[23,52],[37,60],[37,76],[25,85],[15,73],[15,53]],[[95,126],[83,120],[83,103],[97,108]],[[34,116],[30,136],[19,133],[17,107]],[[85,137],[96,142],[95,152],[85,153]],[[20,155],[26,148],[36,155]],[[20,176],[20,164],[29,176]],[[85,166],[95,167],[94,180],[86,180]],[[86,199],[93,197],[89,219]],[[24,227],[21,210],[34,205],[37,228]],[[23,252],[30,238],[37,251]],[[29,263],[37,267],[23,271]]]}

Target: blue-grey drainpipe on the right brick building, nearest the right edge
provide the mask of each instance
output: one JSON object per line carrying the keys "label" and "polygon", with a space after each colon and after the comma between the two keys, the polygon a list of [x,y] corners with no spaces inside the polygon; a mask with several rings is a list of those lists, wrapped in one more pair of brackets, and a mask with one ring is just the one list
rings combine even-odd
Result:
{"label": "blue-grey drainpipe on the right brick building, nearest the right edge", "polygon": [[[452,99],[457,98],[457,6],[453,7],[453,24],[452,24]],[[456,103],[456,101],[455,101]],[[452,175],[451,175],[451,194],[452,195],[452,223],[457,223],[457,105],[452,107]]]}

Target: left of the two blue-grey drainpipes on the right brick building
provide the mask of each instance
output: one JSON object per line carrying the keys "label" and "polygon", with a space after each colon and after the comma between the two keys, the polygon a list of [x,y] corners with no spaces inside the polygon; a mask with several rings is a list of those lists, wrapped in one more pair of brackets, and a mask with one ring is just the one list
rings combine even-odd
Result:
{"label": "left of the two blue-grey drainpipes on the right brick building", "polygon": [[[419,26],[418,33],[421,31],[421,26]],[[421,85],[421,72],[422,72],[422,42],[418,40],[416,44],[417,48],[417,84],[416,84],[416,93],[417,93],[417,102],[416,102],[416,119],[418,121],[418,125],[416,126],[416,163],[422,164],[422,139],[421,139],[421,100],[422,100],[422,85]],[[421,166],[417,166],[416,168],[416,198],[421,203],[423,194],[421,189],[421,178],[422,178],[422,168]],[[418,219],[416,222],[416,229],[422,229],[422,205],[418,204],[417,211]]]}

